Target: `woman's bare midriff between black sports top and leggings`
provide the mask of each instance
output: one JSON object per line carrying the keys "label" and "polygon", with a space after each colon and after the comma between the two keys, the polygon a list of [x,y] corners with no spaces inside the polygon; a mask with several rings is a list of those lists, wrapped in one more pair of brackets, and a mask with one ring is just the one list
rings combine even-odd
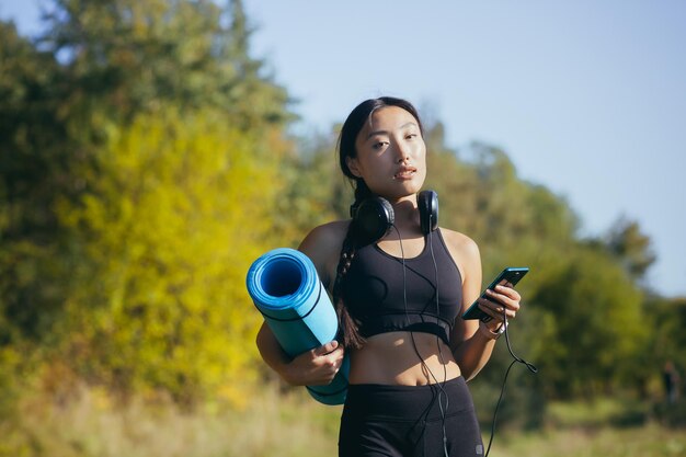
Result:
{"label": "woman's bare midriff between black sports top and leggings", "polygon": [[431,333],[380,333],[351,353],[351,384],[424,386],[458,376],[450,349]]}

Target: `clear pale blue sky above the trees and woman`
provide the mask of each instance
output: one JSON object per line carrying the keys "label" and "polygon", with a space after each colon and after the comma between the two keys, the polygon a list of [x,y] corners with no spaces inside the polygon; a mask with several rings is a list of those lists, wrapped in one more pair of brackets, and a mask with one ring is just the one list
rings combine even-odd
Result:
{"label": "clear pale blue sky above the trees and woman", "polygon": [[[299,128],[408,98],[449,146],[499,146],[564,196],[582,235],[638,220],[659,258],[651,286],[686,296],[686,1],[244,2]],[[0,16],[35,33],[37,4],[0,0]]]}

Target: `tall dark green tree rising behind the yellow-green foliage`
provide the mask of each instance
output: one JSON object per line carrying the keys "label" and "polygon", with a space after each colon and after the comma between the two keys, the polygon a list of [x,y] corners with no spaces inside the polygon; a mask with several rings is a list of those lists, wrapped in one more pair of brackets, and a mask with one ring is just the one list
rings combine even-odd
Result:
{"label": "tall dark green tree rising behind the yellow-green foliage", "polygon": [[265,138],[291,118],[286,91],[250,57],[239,0],[56,0],[48,11],[36,42],[0,24],[0,343],[57,319],[78,259],[55,198],[84,192],[80,168],[106,132],[169,106],[211,107]]}

